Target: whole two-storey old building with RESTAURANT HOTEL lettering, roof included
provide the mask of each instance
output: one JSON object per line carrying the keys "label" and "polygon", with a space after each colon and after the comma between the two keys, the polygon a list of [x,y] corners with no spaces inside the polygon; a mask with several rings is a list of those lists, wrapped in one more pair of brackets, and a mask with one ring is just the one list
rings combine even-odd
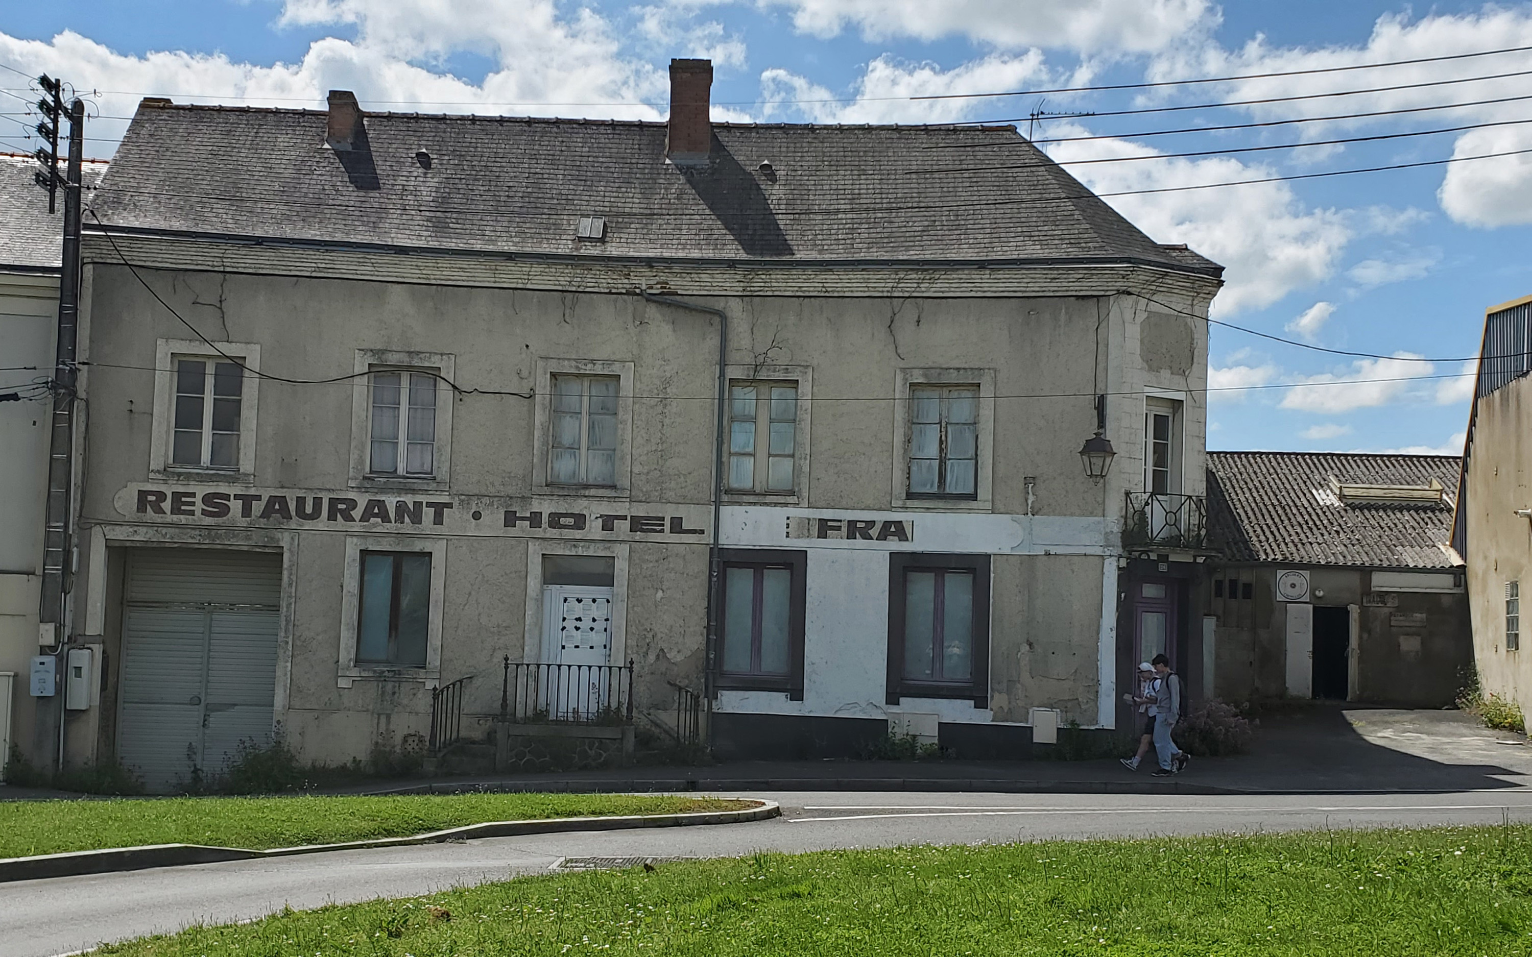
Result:
{"label": "whole two-storey old building with RESTAURANT HOTEL lettering, roof included", "polygon": [[86,219],[72,759],[365,758],[447,686],[472,729],[682,686],[725,756],[1025,755],[1201,654],[1221,269],[1011,127],[671,78],[668,124],[139,106]]}

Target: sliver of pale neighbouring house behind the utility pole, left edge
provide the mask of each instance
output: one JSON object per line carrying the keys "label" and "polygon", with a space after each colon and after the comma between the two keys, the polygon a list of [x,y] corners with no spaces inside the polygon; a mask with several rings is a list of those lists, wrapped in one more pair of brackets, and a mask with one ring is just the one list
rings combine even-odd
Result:
{"label": "sliver of pale neighbouring house behind the utility pole, left edge", "polygon": [[[40,643],[38,608],[63,237],[63,196],[49,213],[38,168],[31,156],[0,155],[0,767],[12,744],[51,758],[57,737],[57,724],[38,727],[29,695],[31,660],[54,645]],[[81,176],[93,184],[104,168],[86,162]]]}

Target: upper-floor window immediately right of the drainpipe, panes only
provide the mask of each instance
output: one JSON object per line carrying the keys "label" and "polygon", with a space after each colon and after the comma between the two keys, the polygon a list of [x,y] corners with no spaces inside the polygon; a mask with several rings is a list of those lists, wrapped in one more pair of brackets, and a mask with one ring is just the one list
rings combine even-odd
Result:
{"label": "upper-floor window immediately right of the drainpipe, panes only", "polygon": [[798,383],[729,383],[729,492],[791,493]]}

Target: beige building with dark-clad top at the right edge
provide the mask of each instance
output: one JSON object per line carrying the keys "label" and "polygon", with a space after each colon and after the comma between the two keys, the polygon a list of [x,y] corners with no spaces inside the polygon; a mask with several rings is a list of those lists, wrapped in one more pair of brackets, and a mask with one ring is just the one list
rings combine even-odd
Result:
{"label": "beige building with dark-clad top at the right edge", "polygon": [[1532,296],[1491,308],[1463,447],[1452,547],[1468,563],[1474,661],[1486,694],[1532,714],[1521,649],[1532,583]]}

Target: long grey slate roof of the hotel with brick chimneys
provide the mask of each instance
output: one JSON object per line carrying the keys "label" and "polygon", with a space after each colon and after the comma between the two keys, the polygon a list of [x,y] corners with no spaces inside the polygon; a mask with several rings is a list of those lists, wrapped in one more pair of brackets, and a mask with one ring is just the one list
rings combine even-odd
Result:
{"label": "long grey slate roof of the hotel with brick chimneys", "polygon": [[[354,153],[325,147],[325,126],[320,110],[144,103],[92,205],[118,227],[363,247],[1223,273],[1151,240],[1014,127],[719,122],[711,168],[683,171],[662,122],[368,113]],[[916,171],[996,164],[1025,168]],[[607,219],[605,242],[576,239],[582,216]]]}

